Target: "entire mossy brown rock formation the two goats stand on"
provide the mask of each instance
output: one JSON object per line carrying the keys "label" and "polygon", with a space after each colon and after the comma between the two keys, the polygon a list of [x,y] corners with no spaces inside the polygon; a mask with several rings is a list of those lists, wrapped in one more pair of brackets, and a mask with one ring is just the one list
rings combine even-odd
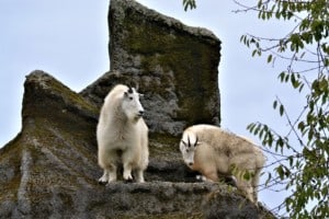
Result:
{"label": "entire mossy brown rock formation the two goats stand on", "polygon": [[[0,218],[272,218],[234,187],[195,182],[178,150],[183,128],[219,124],[220,42],[132,0],[112,0],[111,70],[76,93],[26,77],[22,130],[0,150]],[[147,183],[99,185],[95,126],[116,83],[138,84],[150,128]]]}

